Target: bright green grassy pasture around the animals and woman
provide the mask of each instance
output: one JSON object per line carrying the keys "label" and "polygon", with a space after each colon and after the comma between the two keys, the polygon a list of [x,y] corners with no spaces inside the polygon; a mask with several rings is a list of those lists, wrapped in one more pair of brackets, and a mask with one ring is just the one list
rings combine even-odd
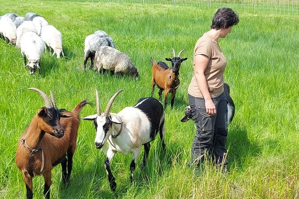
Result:
{"label": "bright green grassy pasture around the animals and woman", "polygon": [[[201,170],[187,166],[195,134],[192,121],[181,123],[193,72],[193,48],[209,30],[214,8],[163,4],[0,0],[0,15],[35,12],[63,34],[65,58],[44,53],[41,75],[29,75],[20,50],[0,40],[0,198],[26,197],[22,174],[15,165],[18,138],[38,108],[44,106],[36,87],[53,90],[59,108],[72,110],[82,99],[101,107],[119,89],[111,111],[133,106],[151,93],[150,58],[172,57],[186,49],[180,69],[181,85],[174,107],[166,109],[166,151],[160,138],[152,142],[148,166],[140,170],[143,149],[130,184],[131,156],[117,154],[111,164],[118,185],[110,191],[103,163],[94,147],[95,129],[81,121],[73,158],[71,184],[62,187],[61,166],[52,170],[51,197],[99,198],[298,198],[299,197],[299,16],[237,10],[240,22],[220,46],[227,58],[225,81],[231,86],[236,114],[229,126],[229,167],[225,175],[213,165]],[[117,78],[93,70],[83,73],[84,39],[103,30],[116,48],[127,53],[140,79]],[[158,90],[155,92],[158,98]],[[81,116],[96,113],[85,106]],[[33,196],[42,198],[44,180],[33,178]]]}

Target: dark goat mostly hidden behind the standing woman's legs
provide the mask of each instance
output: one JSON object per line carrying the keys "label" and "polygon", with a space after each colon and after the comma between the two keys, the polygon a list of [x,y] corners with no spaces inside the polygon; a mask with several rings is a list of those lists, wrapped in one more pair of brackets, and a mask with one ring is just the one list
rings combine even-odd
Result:
{"label": "dark goat mostly hidden behind the standing woman's legs", "polygon": [[[224,83],[224,93],[228,100],[228,125],[229,125],[233,121],[235,107],[234,107],[233,99],[230,96],[230,86],[226,83]],[[187,106],[185,108],[185,116],[181,119],[181,122],[187,122],[189,119],[193,120],[193,114],[192,114],[191,107]]]}

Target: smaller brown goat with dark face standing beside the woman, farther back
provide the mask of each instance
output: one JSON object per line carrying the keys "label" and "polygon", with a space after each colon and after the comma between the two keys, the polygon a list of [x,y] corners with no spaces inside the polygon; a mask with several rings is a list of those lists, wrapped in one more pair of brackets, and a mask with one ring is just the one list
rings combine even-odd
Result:
{"label": "smaller brown goat with dark face standing beside the woman, farther back", "polygon": [[168,93],[171,93],[171,108],[173,108],[174,103],[174,97],[176,94],[176,89],[180,85],[179,80],[179,69],[181,66],[181,63],[187,58],[180,58],[181,54],[184,50],[181,50],[177,56],[175,56],[175,51],[173,48],[173,57],[166,58],[166,61],[171,62],[172,68],[169,68],[165,62],[157,62],[155,63],[154,60],[150,60],[152,63],[152,97],[154,95],[155,85],[157,85],[160,89],[159,91],[159,99],[162,101],[162,92],[164,91],[164,109],[166,109],[167,106],[167,95]]}

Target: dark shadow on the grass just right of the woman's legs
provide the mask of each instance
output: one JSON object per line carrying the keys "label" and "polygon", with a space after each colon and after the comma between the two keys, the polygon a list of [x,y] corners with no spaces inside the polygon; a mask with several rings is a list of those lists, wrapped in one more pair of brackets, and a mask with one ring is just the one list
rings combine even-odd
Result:
{"label": "dark shadow on the grass just right of the woman's legs", "polygon": [[261,146],[255,140],[249,140],[245,129],[236,125],[231,126],[228,133],[229,167],[245,170],[248,159],[261,154]]}

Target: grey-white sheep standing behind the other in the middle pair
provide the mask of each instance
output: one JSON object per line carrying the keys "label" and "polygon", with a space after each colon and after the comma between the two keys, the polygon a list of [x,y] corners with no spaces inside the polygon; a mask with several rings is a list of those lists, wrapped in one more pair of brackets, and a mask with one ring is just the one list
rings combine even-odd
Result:
{"label": "grey-white sheep standing behind the other in the middle pair", "polygon": [[94,67],[94,59],[97,49],[100,46],[110,46],[115,48],[113,39],[104,31],[96,31],[94,34],[90,34],[84,41],[84,70],[86,70],[86,64],[90,58],[90,68]]}

